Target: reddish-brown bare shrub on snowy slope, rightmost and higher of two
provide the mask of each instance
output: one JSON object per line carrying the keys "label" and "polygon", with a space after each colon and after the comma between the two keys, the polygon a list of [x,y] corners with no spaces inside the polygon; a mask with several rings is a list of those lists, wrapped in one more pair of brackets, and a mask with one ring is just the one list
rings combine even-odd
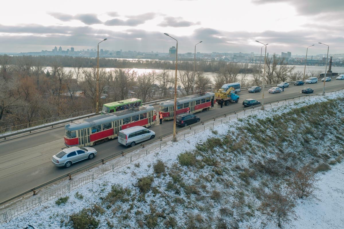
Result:
{"label": "reddish-brown bare shrub on snowy slope, rightmost and higher of two", "polygon": [[313,198],[316,183],[319,179],[315,176],[313,168],[306,165],[297,171],[290,181],[292,192],[301,199]]}

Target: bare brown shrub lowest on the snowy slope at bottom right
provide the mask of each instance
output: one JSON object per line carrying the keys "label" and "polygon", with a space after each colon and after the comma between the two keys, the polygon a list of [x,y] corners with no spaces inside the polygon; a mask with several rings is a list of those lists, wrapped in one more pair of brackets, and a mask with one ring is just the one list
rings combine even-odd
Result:
{"label": "bare brown shrub lowest on the snowy slope at bottom right", "polygon": [[282,227],[282,221],[288,222],[291,217],[295,217],[295,199],[290,189],[283,190],[279,185],[275,185],[262,197],[260,209],[277,223],[278,227]]}

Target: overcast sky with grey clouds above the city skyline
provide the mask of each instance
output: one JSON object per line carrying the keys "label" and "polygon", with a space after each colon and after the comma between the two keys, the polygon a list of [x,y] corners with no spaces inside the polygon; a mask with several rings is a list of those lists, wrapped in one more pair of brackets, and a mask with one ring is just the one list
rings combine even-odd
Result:
{"label": "overcast sky with grey clouds above the city skyline", "polygon": [[[344,0],[6,0],[0,52],[99,48],[292,55],[344,53]],[[263,51],[264,52],[264,51]]]}

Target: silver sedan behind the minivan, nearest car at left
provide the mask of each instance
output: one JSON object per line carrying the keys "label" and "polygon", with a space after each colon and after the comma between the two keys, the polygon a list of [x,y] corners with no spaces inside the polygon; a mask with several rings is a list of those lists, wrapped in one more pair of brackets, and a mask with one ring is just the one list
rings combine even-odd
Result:
{"label": "silver sedan behind the minivan, nearest car at left", "polygon": [[58,167],[65,166],[66,168],[69,168],[72,164],[78,161],[93,159],[96,154],[96,149],[92,147],[87,146],[79,148],[75,146],[60,151],[58,154],[53,156],[51,161]]}

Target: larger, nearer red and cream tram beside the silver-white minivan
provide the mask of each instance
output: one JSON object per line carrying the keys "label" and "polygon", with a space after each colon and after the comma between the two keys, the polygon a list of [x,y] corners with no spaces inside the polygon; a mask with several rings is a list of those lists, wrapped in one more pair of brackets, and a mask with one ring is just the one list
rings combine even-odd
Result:
{"label": "larger, nearer red and cream tram beside the silver-white minivan", "polygon": [[78,120],[65,125],[65,145],[79,147],[95,145],[97,142],[117,137],[120,130],[134,126],[152,126],[155,118],[153,106],[141,106]]}

